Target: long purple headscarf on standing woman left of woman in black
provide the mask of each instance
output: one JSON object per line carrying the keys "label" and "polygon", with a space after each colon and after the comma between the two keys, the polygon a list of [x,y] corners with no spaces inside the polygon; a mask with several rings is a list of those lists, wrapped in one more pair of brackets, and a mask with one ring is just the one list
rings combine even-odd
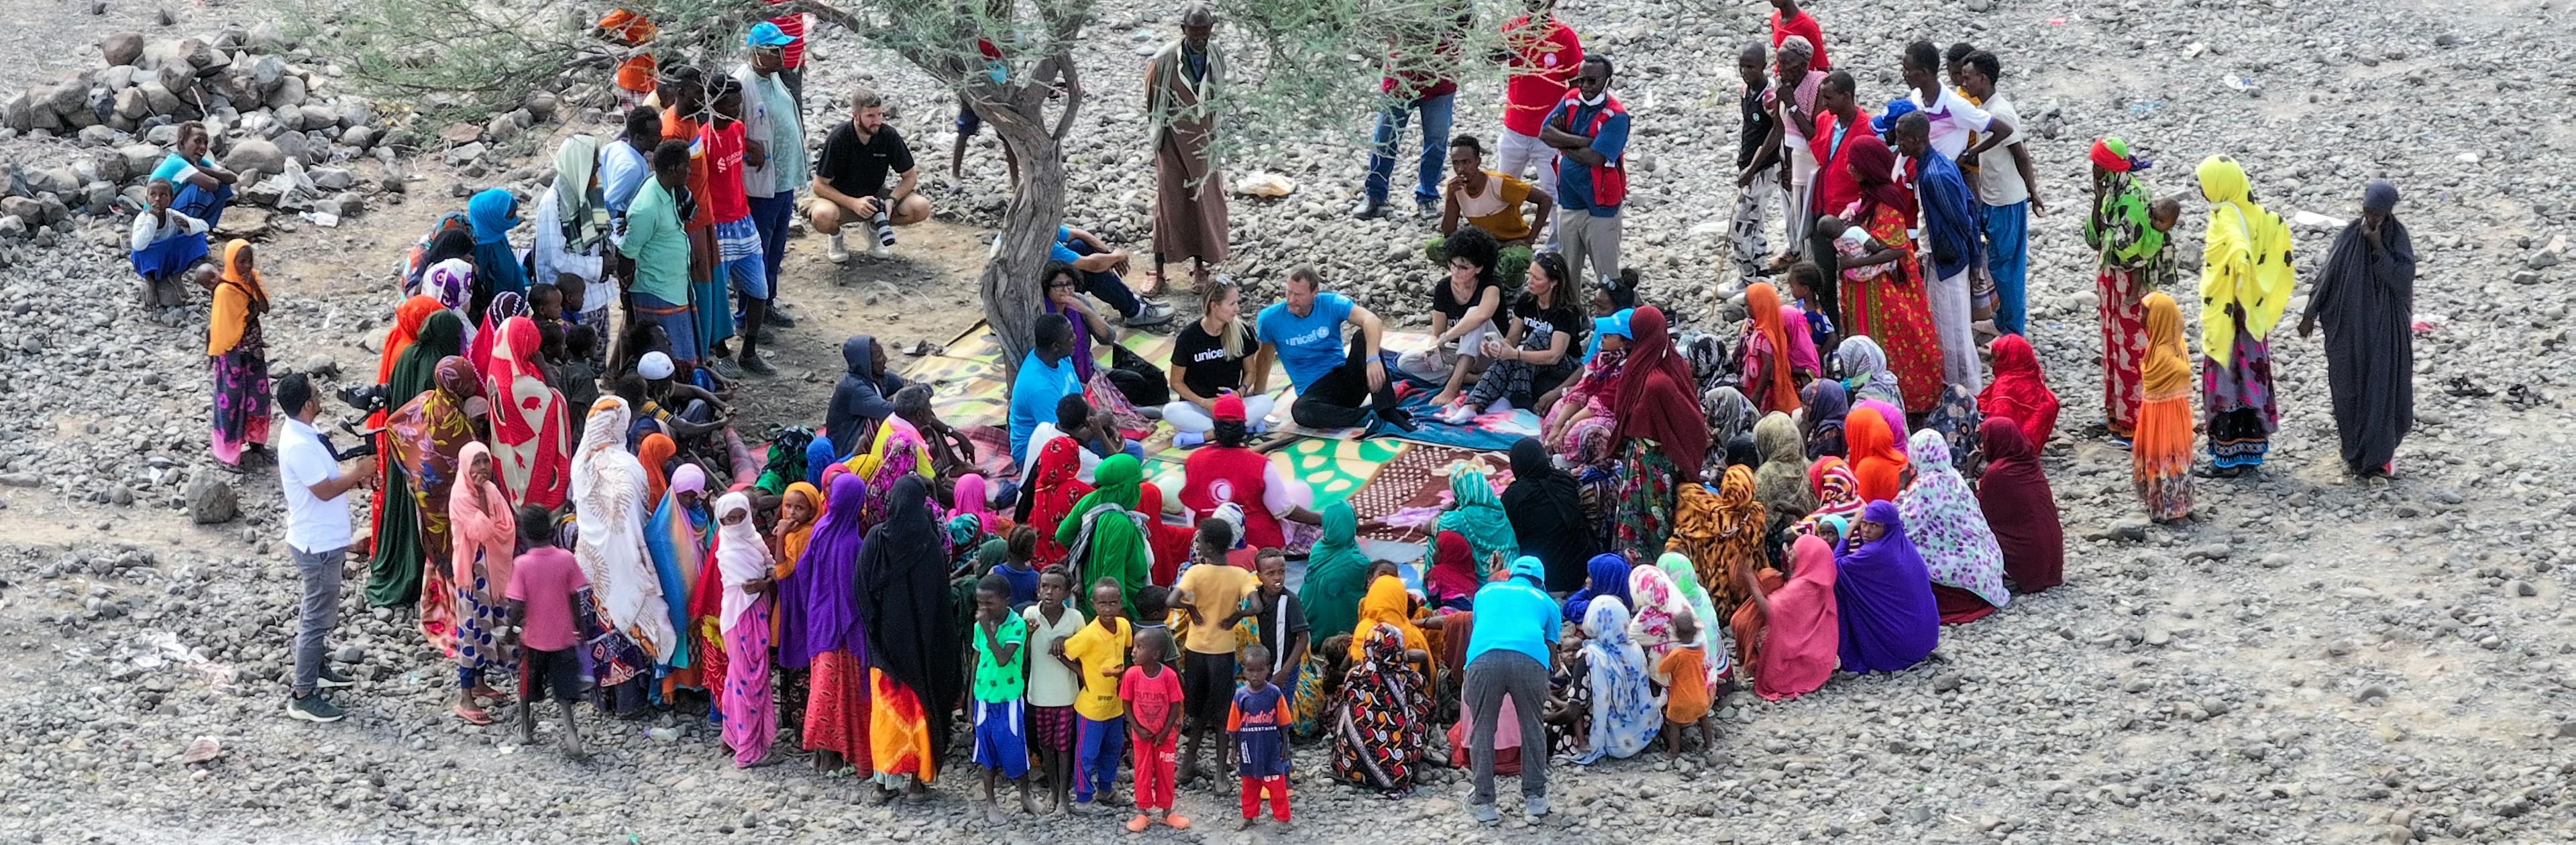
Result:
{"label": "long purple headscarf on standing woman left of woman in black", "polygon": [[824,495],[822,523],[806,541],[796,572],[778,582],[778,608],[786,621],[778,626],[778,665],[801,670],[814,654],[850,649],[868,660],[868,639],[858,629],[858,549],[866,541],[860,526],[868,510],[868,482],[855,474],[832,477]]}

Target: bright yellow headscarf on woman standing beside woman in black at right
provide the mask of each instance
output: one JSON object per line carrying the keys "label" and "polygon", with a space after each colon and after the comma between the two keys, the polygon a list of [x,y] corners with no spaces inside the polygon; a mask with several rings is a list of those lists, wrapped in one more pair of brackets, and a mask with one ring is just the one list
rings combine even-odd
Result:
{"label": "bright yellow headscarf on woman standing beside woman in black at right", "polygon": [[2298,273],[2290,271],[2290,227],[2254,204],[2254,183],[2226,155],[2200,160],[2200,196],[2210,201],[2210,232],[2200,247],[2200,350],[2228,363],[2236,353],[2236,319],[2254,340],[2272,335],[2290,304]]}

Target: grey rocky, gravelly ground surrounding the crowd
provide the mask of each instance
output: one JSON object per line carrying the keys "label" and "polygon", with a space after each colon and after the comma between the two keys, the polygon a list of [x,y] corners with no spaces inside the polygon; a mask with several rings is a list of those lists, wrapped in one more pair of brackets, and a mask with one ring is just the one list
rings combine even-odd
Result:
{"label": "grey rocky, gravelly ground surrounding the crowd", "polygon": [[[1734,155],[1728,57],[1754,39],[1757,10],[1566,5],[1587,44],[1625,70],[1618,90],[1638,124],[1628,260],[1646,271],[1651,299],[1698,327],[1716,322],[1721,255],[1692,227],[1731,206],[1718,188]],[[2563,258],[2576,227],[2563,157],[2576,131],[2553,119],[2553,103],[2576,93],[2558,75],[2576,52],[2568,13],[2553,0],[1832,0],[1816,13],[1865,103],[1899,93],[1904,41],[2002,54],[2058,209],[2035,222],[2032,340],[2071,425],[2089,420],[2099,384],[2089,255],[2066,211],[2084,193],[2092,137],[2123,134],[2161,160],[2148,173],[2159,191],[2187,191],[2190,162],[2231,152],[2282,216],[2342,219],[2365,180],[2398,183],[2398,214],[2424,252],[2406,477],[2342,477],[2318,345],[2285,332],[2275,343],[2282,433],[2267,474],[2205,482],[2195,523],[2151,528],[2128,492],[2125,453],[2061,435],[2048,469],[2069,523],[2069,582],[1945,631],[1935,660],[1911,672],[1837,678],[1793,703],[1731,696],[1721,747],[1682,765],[1556,768],[1561,812],[1535,830],[1468,824],[1463,783],[1448,773],[1409,801],[1329,786],[1327,760],[1309,750],[1298,757],[1301,830],[1257,840],[1352,840],[1363,819],[1396,822],[1370,830],[1388,842],[2576,840],[2576,616],[2561,569],[2561,526],[2576,513],[2563,404]],[[106,15],[90,15],[90,3],[15,5],[0,46],[33,59],[0,67],[0,85],[103,67],[95,46],[64,44],[116,31],[206,36],[265,13],[175,3],[175,26],[160,15],[126,3]],[[1128,70],[1170,28],[1164,8],[1105,3],[1082,57],[1097,98],[1074,147],[1072,222],[1123,245],[1144,240],[1149,196]],[[526,157],[533,137],[567,121],[608,131],[567,103],[551,121],[531,113],[515,126],[526,139],[489,144],[479,160],[451,160],[430,142],[440,149],[389,170],[379,147],[345,139],[340,124],[368,121],[345,121],[350,103],[330,100],[345,90],[327,59],[265,54],[309,75],[309,95],[332,106],[337,137],[304,165],[348,170],[350,183],[314,185],[307,201],[358,201],[330,229],[294,209],[270,216],[263,265],[281,294],[268,317],[281,368],[366,371],[368,335],[392,304],[384,271],[435,211],[459,206],[466,188],[531,185],[541,173]],[[817,113],[837,113],[829,93],[860,80],[886,88],[922,162],[945,170],[951,106],[925,77],[848,36],[824,36],[817,62]],[[1468,85],[1461,131],[1492,134],[1494,100],[1492,80]],[[1365,131],[1358,121],[1347,116],[1350,131]],[[36,204],[0,206],[26,227],[0,232],[10,237],[0,242],[0,379],[10,386],[0,392],[0,837],[1079,842],[1110,830],[1018,814],[1002,830],[969,824],[963,765],[927,806],[871,806],[860,786],[796,763],[734,770],[714,732],[685,719],[585,716],[598,755],[567,763],[443,716],[446,662],[407,621],[355,600],[335,652],[363,678],[340,698],[353,716],[286,721],[296,587],[273,541],[276,487],[211,466],[201,317],[137,314],[121,247],[111,247],[124,219],[80,214],[90,183],[121,185],[124,175],[98,167],[149,142],[142,131],[111,129],[95,144],[0,131],[13,173],[72,167],[75,178],[0,183]],[[945,340],[974,319],[979,227],[997,219],[1002,196],[989,137],[971,167],[963,185],[935,178],[948,214],[907,232],[899,260],[835,271],[814,258],[819,242],[791,247],[786,291],[809,322],[786,332],[786,374],[755,381],[765,399],[752,422],[811,422],[848,332]],[[1236,165],[1249,170],[1298,183],[1288,198],[1236,204],[1234,271],[1257,283],[1257,301],[1280,268],[1306,260],[1383,307],[1412,301],[1427,281],[1419,260],[1394,258],[1427,224],[1342,216],[1360,173],[1352,149],[1255,149]],[[2187,209],[2197,229],[2202,209]],[[2331,227],[2303,224],[2298,237],[2306,265]],[[237,482],[237,508],[211,482]],[[201,526],[191,518],[201,510],[237,515]],[[1231,799],[1193,791],[1182,812],[1200,830],[1151,837],[1239,840],[1211,824],[1231,817]]]}

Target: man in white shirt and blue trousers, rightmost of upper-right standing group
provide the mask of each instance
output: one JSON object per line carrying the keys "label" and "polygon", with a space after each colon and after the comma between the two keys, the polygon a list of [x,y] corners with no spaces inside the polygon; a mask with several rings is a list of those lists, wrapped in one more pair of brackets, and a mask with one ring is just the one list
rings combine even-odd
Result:
{"label": "man in white shirt and blue trousers, rightmost of upper-right standing group", "polygon": [[[1953,77],[1968,98],[1984,103],[1986,113],[2017,124],[2022,119],[2020,111],[1994,90],[1994,80],[2002,75],[2004,62],[1991,52],[1976,49],[1960,57]],[[2014,134],[2004,149],[2012,152],[2012,162],[1989,162],[1968,170],[1968,188],[1976,188],[1976,204],[1984,211],[1986,276],[1994,278],[1994,330],[2020,335],[2030,314],[2025,304],[2030,281],[2030,216],[2045,214],[2048,204],[2040,198],[2040,178],[2030,170],[2027,137]]]}

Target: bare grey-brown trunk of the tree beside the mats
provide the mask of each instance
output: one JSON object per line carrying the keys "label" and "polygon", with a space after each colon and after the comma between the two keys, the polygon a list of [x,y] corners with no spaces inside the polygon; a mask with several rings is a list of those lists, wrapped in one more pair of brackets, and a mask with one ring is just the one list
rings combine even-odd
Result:
{"label": "bare grey-brown trunk of the tree beside the mats", "polygon": [[1064,149],[1046,131],[1023,121],[987,121],[1002,144],[1020,157],[1020,183],[1002,211],[1002,247],[984,263],[976,289],[984,294],[984,322],[1002,343],[1002,371],[1018,376],[1028,356],[1046,291],[1038,273],[1064,224]]}

